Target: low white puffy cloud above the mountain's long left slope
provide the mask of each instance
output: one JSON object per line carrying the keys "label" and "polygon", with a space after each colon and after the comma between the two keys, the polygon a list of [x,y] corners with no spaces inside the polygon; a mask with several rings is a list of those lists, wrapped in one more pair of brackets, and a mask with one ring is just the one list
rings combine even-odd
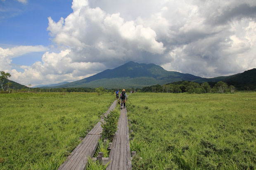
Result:
{"label": "low white puffy cloud above the mountain's long left slope", "polygon": [[[24,72],[11,70],[12,79],[28,84],[50,84],[52,82],[63,82],[80,80],[92,76],[95,71],[104,68],[101,63],[72,62],[69,49],[59,53],[46,52],[42,57],[42,62],[35,62],[32,66],[21,66]],[[83,75],[83,76],[81,76]]]}

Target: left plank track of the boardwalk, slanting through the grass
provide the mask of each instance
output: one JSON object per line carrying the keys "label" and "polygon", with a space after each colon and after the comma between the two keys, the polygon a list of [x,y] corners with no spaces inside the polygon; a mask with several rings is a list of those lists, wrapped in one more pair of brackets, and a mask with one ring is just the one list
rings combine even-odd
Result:
{"label": "left plank track of the boardwalk, slanting through the grass", "polygon": [[[116,100],[112,103],[107,113],[116,108]],[[103,118],[101,119],[101,121]],[[101,121],[83,138],[82,142],[73,150],[66,161],[59,166],[58,170],[84,170],[87,167],[88,157],[92,157],[98,146],[98,141],[101,138],[102,127]]]}

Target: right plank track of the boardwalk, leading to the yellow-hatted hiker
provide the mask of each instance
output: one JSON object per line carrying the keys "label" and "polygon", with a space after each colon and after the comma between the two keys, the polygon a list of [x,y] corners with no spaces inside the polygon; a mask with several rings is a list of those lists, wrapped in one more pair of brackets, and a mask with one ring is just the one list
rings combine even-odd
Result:
{"label": "right plank track of the boardwalk, leading to the yellow-hatted hiker", "polygon": [[131,170],[132,162],[130,160],[129,128],[127,110],[121,109],[118,130],[114,135],[109,153],[109,165],[107,170]]}

